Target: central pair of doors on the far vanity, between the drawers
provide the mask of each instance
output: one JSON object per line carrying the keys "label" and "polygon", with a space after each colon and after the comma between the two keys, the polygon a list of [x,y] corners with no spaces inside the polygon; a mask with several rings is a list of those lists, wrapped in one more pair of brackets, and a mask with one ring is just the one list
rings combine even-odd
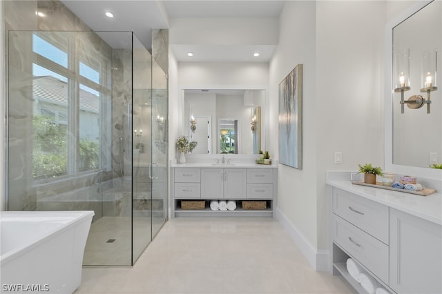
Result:
{"label": "central pair of doors on the far vanity, between the drawers", "polygon": [[201,197],[247,199],[247,169],[201,168]]}

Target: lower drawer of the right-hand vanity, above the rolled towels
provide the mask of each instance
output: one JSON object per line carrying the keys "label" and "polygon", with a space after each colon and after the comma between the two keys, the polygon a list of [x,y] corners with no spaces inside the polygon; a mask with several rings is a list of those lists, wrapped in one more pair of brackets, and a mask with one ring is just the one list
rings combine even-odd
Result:
{"label": "lower drawer of the right-hand vanity, above the rolled towels", "polygon": [[388,282],[388,246],[334,215],[334,242],[369,271]]}

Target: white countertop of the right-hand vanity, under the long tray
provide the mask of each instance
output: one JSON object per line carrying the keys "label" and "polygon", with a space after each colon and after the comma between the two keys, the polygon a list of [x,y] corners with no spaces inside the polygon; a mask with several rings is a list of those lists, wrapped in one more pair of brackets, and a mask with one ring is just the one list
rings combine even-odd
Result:
{"label": "white countertop of the right-hand vanity, under the long tray", "polygon": [[356,185],[352,184],[349,180],[333,179],[333,177],[327,177],[327,185],[346,190],[374,202],[385,204],[405,213],[410,213],[410,215],[442,225],[442,194],[440,191],[432,195],[421,196]]}

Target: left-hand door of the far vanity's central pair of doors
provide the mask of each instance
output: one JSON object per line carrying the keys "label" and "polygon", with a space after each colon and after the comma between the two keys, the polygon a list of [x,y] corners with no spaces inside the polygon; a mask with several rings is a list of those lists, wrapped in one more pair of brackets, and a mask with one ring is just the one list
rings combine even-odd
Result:
{"label": "left-hand door of the far vanity's central pair of doors", "polygon": [[223,195],[223,168],[201,168],[201,198],[222,199]]}

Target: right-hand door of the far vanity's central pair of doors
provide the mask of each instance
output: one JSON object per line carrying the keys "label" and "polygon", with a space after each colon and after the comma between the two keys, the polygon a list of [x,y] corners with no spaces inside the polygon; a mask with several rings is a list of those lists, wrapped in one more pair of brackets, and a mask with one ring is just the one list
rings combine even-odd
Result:
{"label": "right-hand door of the far vanity's central pair of doors", "polygon": [[224,199],[247,198],[247,170],[224,168]]}

